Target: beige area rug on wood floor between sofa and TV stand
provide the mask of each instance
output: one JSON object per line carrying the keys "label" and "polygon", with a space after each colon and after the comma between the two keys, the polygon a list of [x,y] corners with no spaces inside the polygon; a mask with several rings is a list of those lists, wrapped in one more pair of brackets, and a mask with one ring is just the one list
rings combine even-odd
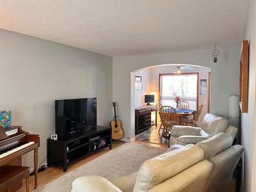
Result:
{"label": "beige area rug on wood floor between sofa and TV stand", "polygon": [[166,148],[125,143],[34,191],[70,192],[72,182],[84,175],[99,175],[113,181],[116,178],[138,171],[144,161],[165,151]]}

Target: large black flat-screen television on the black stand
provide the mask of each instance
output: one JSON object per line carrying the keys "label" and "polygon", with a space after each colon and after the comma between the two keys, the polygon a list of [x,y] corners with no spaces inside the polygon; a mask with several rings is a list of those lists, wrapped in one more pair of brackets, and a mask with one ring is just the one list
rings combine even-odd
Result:
{"label": "large black flat-screen television on the black stand", "polygon": [[96,98],[55,100],[55,134],[58,137],[96,126]]}

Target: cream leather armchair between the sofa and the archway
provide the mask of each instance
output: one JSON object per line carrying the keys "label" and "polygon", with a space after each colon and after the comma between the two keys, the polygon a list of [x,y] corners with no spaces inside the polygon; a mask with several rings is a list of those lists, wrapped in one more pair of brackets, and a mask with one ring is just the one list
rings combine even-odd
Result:
{"label": "cream leather armchair between the sofa and the archway", "polygon": [[207,113],[202,127],[174,125],[170,132],[169,146],[196,144],[219,133],[227,133],[234,139],[238,129],[228,124],[228,119]]}

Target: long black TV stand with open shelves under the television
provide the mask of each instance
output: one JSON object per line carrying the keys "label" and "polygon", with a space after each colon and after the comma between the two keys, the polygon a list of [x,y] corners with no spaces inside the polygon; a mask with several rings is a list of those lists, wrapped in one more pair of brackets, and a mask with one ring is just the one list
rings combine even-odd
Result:
{"label": "long black TV stand with open shelves under the television", "polygon": [[[58,140],[47,140],[47,166],[59,165],[63,167],[63,172],[67,172],[67,167],[91,153],[112,148],[111,127],[97,126],[97,129],[80,131]],[[95,139],[94,139],[95,138]],[[105,145],[98,147],[100,140],[105,141]]]}

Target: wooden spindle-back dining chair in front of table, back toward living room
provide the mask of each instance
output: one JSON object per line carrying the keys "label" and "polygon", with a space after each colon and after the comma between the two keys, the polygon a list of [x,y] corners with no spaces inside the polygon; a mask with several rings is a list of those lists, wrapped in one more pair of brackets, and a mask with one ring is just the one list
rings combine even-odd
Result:
{"label": "wooden spindle-back dining chair in front of table, back toward living room", "polygon": [[163,131],[161,133],[161,138],[168,131],[172,130],[173,125],[178,125],[179,120],[176,110],[172,106],[162,106],[160,109],[160,118],[162,119]]}

